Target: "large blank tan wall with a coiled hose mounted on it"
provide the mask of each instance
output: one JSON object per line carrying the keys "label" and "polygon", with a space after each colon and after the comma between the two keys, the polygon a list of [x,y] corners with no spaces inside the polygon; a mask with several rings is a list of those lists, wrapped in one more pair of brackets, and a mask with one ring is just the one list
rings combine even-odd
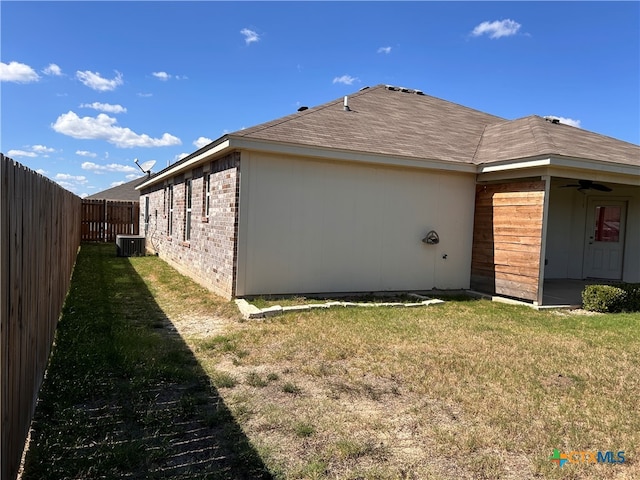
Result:
{"label": "large blank tan wall with a coiled hose mounted on it", "polygon": [[469,287],[474,175],[255,152],[240,169],[237,295]]}

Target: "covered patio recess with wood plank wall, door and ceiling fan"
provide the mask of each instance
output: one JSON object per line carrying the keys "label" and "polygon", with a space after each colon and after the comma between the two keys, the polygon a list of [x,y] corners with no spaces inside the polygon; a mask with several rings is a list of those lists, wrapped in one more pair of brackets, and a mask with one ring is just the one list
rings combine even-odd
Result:
{"label": "covered patio recess with wood plank wall, door and ceiling fan", "polygon": [[541,175],[478,184],[472,290],[579,308],[585,285],[639,282],[637,177],[532,170]]}

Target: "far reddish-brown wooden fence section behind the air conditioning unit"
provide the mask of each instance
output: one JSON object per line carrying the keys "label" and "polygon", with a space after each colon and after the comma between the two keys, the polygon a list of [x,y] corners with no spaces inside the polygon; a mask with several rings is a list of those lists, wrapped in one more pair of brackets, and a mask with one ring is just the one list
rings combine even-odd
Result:
{"label": "far reddish-brown wooden fence section behind the air conditioning unit", "polygon": [[140,203],[82,200],[82,241],[115,242],[116,235],[138,235]]}

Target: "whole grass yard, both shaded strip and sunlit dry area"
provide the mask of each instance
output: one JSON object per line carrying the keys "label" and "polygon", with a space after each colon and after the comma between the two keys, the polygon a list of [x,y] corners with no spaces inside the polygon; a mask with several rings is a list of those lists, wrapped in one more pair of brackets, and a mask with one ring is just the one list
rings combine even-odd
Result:
{"label": "whole grass yard, both shaded strip and sunlit dry area", "polygon": [[113,250],[82,247],[25,478],[177,478],[184,441],[184,478],[640,478],[640,314],[458,299],[243,322]]}

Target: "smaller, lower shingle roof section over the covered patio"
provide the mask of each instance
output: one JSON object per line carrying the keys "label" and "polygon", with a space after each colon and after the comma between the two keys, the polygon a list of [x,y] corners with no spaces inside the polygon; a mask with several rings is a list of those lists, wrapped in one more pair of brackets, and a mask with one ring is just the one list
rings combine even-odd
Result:
{"label": "smaller, lower shingle roof section over the covered patio", "polygon": [[543,155],[640,166],[638,145],[535,115],[488,125],[474,161],[484,164]]}

